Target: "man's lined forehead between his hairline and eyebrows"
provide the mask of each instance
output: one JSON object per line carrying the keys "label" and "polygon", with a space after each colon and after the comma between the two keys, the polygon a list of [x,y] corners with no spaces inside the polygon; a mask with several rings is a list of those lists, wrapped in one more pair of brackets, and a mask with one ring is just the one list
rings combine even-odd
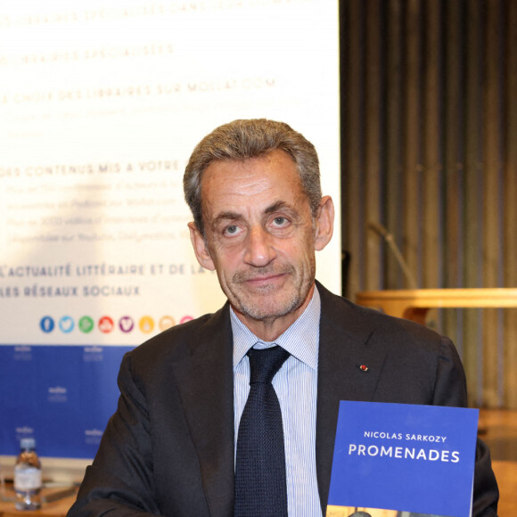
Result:
{"label": "man's lined forehead between his hairline and eyebrows", "polygon": [[307,196],[294,161],[278,150],[248,160],[217,160],[201,179],[201,200],[207,216],[234,205],[250,209],[265,202],[300,203],[301,198]]}

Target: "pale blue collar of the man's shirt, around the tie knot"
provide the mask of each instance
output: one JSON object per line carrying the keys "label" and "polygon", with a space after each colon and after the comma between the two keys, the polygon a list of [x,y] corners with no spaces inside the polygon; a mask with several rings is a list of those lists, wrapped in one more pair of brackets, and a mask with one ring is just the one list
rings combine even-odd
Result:
{"label": "pale blue collar of the man's shirt, around the tie knot", "polygon": [[312,299],[301,316],[275,341],[268,342],[259,340],[235,315],[234,309],[230,306],[230,321],[234,333],[234,370],[254,345],[257,344],[256,348],[264,349],[276,344],[316,371],[320,315],[321,300],[315,286]]}

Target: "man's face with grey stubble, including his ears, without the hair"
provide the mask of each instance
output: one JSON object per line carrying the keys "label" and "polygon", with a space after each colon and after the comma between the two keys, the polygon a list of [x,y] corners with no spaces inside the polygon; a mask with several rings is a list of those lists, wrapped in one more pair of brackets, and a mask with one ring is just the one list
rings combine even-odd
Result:
{"label": "man's face with grey stubble, including his ears, without the hair", "polygon": [[201,199],[206,242],[190,225],[201,266],[217,270],[245,323],[280,318],[289,326],[312,296],[315,250],[330,240],[322,245],[318,238],[319,212],[312,217],[291,157],[275,151],[213,162],[202,176]]}

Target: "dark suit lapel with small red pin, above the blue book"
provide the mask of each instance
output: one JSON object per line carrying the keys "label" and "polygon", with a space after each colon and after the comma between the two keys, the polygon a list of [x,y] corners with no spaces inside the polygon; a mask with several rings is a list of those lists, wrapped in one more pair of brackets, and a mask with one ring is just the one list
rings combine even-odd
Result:
{"label": "dark suit lapel with small red pin, above the blue book", "polygon": [[339,402],[373,399],[384,354],[368,346],[373,328],[353,304],[327,291],[320,283],[317,288],[322,310],[317,379],[316,472],[325,514]]}

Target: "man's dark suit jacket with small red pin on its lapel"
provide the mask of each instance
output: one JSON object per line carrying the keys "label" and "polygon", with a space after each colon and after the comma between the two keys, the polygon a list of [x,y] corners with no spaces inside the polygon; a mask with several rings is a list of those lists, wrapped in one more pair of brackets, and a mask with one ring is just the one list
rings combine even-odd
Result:
{"label": "man's dark suit jacket with small red pin on its lapel", "polygon": [[[317,287],[322,316],[316,468],[325,509],[341,399],[465,406],[466,387],[447,338]],[[233,514],[232,341],[226,303],[124,357],[118,410],[69,516]],[[496,480],[482,442],[474,484],[473,515],[496,515]]]}

